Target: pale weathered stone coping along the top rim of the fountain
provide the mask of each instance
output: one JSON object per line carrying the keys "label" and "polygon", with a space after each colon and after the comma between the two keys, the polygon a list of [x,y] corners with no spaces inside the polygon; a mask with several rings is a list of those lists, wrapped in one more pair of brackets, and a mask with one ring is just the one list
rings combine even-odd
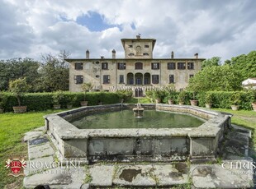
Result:
{"label": "pale weathered stone coping along the top rim of the fountain", "polygon": [[[199,118],[205,118],[208,120],[204,122],[200,127],[187,127],[187,128],[127,128],[127,129],[78,129],[73,124],[66,121],[65,118],[74,113],[83,115],[93,110],[108,110],[108,109],[121,109],[134,108],[135,104],[109,104],[109,105],[97,105],[75,108],[72,110],[64,111],[61,113],[54,113],[46,115],[44,118],[46,122],[51,122],[55,127],[55,133],[58,133],[59,138],[68,139],[85,139],[89,137],[134,137],[134,136],[189,136],[189,137],[215,137],[221,130],[221,127],[225,121],[230,117],[223,115],[216,111],[212,111],[206,108],[192,107],[187,105],[168,105],[168,104],[141,104],[145,109],[156,110],[168,110],[169,112],[178,113],[192,113]],[[204,116],[202,116],[202,114]],[[46,123],[46,128],[47,123]]]}

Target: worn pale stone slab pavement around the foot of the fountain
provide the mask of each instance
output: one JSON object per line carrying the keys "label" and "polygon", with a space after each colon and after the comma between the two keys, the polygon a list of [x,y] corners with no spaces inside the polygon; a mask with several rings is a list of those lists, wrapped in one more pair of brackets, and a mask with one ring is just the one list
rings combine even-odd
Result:
{"label": "worn pale stone slab pavement around the foot of the fountain", "polygon": [[24,187],[50,188],[164,187],[251,188],[254,160],[249,158],[250,131],[233,126],[225,136],[219,163],[136,164],[61,163],[44,127],[26,133],[28,159]]}

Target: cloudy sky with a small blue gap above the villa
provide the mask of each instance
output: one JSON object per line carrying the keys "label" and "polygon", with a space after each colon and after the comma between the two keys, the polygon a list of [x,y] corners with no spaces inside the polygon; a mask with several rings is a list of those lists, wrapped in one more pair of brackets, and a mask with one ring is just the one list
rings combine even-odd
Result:
{"label": "cloudy sky with a small blue gap above the villa", "polygon": [[255,0],[0,0],[0,59],[69,51],[123,58],[121,38],[157,39],[154,58],[221,57],[256,50]]}

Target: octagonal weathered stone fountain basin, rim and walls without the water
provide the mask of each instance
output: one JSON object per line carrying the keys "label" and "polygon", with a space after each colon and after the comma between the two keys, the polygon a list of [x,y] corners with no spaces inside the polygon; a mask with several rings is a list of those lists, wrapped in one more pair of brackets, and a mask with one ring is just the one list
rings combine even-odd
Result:
{"label": "octagonal weathered stone fountain basin, rim and walls without the water", "polygon": [[[134,105],[122,104],[123,108]],[[190,113],[206,119],[200,127],[78,129],[69,120],[87,113],[120,110],[121,104],[82,107],[45,116],[47,133],[59,152],[59,159],[98,161],[178,161],[214,159],[230,117],[205,108],[186,105],[142,104],[145,109]]]}

